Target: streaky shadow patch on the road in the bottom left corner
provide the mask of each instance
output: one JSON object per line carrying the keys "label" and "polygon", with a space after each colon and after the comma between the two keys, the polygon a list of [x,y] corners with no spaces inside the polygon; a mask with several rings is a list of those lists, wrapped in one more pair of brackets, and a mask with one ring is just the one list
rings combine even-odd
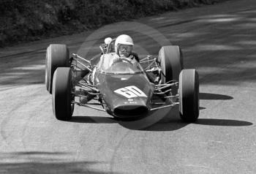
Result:
{"label": "streaky shadow patch on the road in the bottom left corner", "polygon": [[106,173],[92,169],[94,166],[105,164],[105,162],[76,162],[70,159],[71,155],[72,153],[48,151],[0,153],[0,173]]}

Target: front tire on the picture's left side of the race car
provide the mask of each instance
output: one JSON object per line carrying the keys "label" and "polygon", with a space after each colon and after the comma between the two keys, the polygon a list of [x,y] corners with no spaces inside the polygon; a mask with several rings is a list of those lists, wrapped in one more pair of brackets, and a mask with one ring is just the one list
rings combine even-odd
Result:
{"label": "front tire on the picture's left side of the race car", "polygon": [[72,118],[75,97],[72,95],[72,70],[59,67],[53,74],[53,113],[58,120],[69,121]]}

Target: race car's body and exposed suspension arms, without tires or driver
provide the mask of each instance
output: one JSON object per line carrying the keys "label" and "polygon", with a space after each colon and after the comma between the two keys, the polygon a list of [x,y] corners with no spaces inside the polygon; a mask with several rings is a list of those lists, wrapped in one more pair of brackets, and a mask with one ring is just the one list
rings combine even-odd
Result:
{"label": "race car's body and exposed suspension arms, without tires or driver", "polygon": [[[103,108],[93,107],[92,105],[95,105],[93,102],[86,104],[81,102],[81,98],[86,97],[81,95],[75,104],[105,110],[119,118],[146,116],[150,110],[178,104],[175,101],[178,94],[173,96],[170,92],[170,87],[177,86],[178,83],[176,81],[161,83],[161,67],[157,58],[147,56],[140,60],[140,63],[129,64],[119,61],[113,64],[112,60],[116,58],[116,53],[113,53],[113,42],[114,40],[109,45],[100,46],[102,56],[96,66],[92,66],[91,61],[73,54],[73,60],[76,62],[74,69],[78,68],[77,64],[82,64],[89,70],[88,78],[80,80],[77,86],[85,90],[86,94],[93,95]],[[81,63],[81,60],[87,65]],[[142,67],[143,64],[146,64],[145,68]],[[154,81],[148,79],[149,73],[154,75]],[[154,102],[154,99],[155,101],[162,99],[162,102]]]}

